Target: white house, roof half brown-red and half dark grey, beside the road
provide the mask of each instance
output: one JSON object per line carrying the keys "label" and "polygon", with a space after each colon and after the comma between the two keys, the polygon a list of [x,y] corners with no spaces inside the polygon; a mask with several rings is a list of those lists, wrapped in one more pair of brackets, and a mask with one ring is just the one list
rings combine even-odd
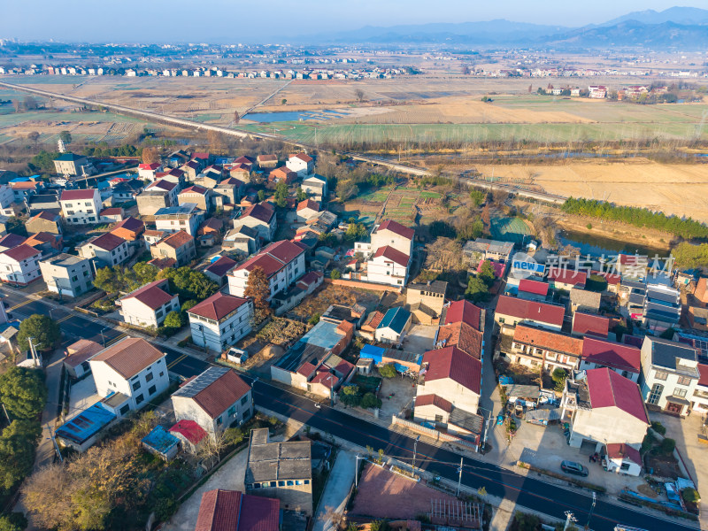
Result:
{"label": "white house, roof half brown-red and half dark grey, beside the road", "polygon": [[250,385],[234,369],[209,367],[172,396],[174,417],[194,420],[212,437],[253,416]]}

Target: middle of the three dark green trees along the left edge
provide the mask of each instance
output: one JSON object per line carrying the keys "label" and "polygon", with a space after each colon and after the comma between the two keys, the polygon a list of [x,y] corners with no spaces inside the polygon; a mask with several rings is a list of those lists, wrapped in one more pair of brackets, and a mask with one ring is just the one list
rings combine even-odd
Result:
{"label": "middle of the three dark green trees along the left edge", "polygon": [[44,373],[11,366],[0,375],[0,400],[15,419],[36,419],[47,402]]}

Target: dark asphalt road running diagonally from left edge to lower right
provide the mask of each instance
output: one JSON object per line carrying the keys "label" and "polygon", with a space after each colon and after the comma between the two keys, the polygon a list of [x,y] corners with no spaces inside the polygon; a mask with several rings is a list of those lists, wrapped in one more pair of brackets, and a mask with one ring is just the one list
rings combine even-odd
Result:
{"label": "dark asphalt road running diagonally from left edge to lower right", "polygon": [[[52,319],[57,319],[65,335],[63,345],[70,344],[79,338],[111,345],[125,337],[125,334],[119,330],[106,327],[88,316],[73,315],[63,308],[54,309],[50,304],[29,299],[27,296],[15,292],[5,290],[4,294],[5,307],[12,318],[24,319],[33,313],[42,313],[51,315]],[[209,366],[207,362],[183,354],[178,350],[170,349],[164,345],[156,346],[166,353],[170,372],[182,378],[202,373]],[[252,381],[249,377],[245,379]],[[304,422],[362,448],[371,446],[374,451],[383,449],[386,455],[404,462],[412,461],[414,442],[412,437],[389,431],[377,424],[358,419],[325,405],[319,409],[315,408],[311,400],[277,388],[265,381],[256,381],[253,387],[254,400],[261,407]],[[454,451],[420,441],[416,464],[428,472],[451,481],[458,481],[460,457]],[[524,477],[500,466],[476,461],[473,458],[465,458],[462,483],[474,489],[484,487],[489,495],[503,497],[523,507],[559,519],[565,519],[565,512],[571,511],[581,526],[584,526],[588,521],[592,504],[590,496],[578,493],[574,489],[565,489],[545,481]],[[612,503],[608,496],[599,495],[590,521],[590,528],[595,531],[612,531],[617,523],[641,527],[650,531],[696,529],[696,527],[689,525],[660,519],[653,514],[641,512],[641,510],[635,510],[625,505]]]}

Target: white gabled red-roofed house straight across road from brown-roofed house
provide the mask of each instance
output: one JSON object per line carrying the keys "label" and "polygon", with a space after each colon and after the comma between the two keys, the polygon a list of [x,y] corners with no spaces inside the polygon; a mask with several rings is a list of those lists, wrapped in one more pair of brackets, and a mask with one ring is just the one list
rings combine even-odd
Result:
{"label": "white gabled red-roofed house straight across road from brown-roofed house", "polygon": [[180,299],[169,292],[169,281],[162,279],[121,296],[116,305],[120,316],[136,327],[159,327],[169,312],[180,311]]}

